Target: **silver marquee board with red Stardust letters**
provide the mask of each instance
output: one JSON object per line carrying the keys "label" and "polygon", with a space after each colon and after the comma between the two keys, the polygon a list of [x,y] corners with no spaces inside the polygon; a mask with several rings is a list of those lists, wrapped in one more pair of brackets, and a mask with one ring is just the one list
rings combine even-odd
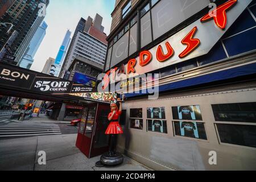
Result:
{"label": "silver marquee board with red Stardust letters", "polygon": [[[133,77],[207,54],[251,1],[229,0],[218,6],[216,10],[210,11],[209,14],[177,32],[158,46],[144,50],[139,53],[138,57],[129,60],[125,65],[126,75]],[[229,11],[227,15],[226,11],[231,8],[233,10]],[[211,19],[214,20],[217,27],[212,26]],[[103,89],[109,84],[110,73],[113,73],[115,81],[118,81],[118,75],[115,74],[117,69],[116,67],[106,73]]]}

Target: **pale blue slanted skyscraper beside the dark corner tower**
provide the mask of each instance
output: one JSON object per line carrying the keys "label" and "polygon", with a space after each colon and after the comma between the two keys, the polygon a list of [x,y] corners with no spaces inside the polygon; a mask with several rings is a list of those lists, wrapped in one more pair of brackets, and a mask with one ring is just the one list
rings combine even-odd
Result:
{"label": "pale blue slanted skyscraper beside the dark corner tower", "polygon": [[19,67],[30,69],[34,61],[36,51],[38,51],[38,48],[46,35],[47,27],[48,25],[46,22],[43,22],[40,27],[38,27],[38,30],[36,30],[35,35],[30,42],[30,46],[28,46],[23,56],[23,59],[19,62]]}

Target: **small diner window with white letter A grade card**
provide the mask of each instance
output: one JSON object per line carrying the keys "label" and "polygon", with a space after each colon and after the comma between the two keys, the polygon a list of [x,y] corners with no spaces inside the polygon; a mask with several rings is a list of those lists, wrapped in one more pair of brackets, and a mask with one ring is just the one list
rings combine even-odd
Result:
{"label": "small diner window with white letter A grade card", "polygon": [[143,130],[142,108],[130,109],[130,127]]}

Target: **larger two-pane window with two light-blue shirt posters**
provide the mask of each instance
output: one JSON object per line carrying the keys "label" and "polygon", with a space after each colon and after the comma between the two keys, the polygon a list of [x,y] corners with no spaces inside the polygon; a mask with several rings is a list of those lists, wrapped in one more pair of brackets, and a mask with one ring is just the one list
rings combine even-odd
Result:
{"label": "larger two-pane window with two light-blue shirt posters", "polygon": [[175,136],[207,140],[199,105],[172,107],[172,117]]}

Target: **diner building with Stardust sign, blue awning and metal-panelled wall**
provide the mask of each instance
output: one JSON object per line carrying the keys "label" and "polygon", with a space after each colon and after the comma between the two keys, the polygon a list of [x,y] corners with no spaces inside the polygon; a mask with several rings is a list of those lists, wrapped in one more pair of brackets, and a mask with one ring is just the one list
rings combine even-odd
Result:
{"label": "diner building with Stardust sign, blue awning and metal-panelled wall", "polygon": [[104,71],[126,96],[118,149],[153,169],[256,169],[256,1],[215,3],[115,2]]}

